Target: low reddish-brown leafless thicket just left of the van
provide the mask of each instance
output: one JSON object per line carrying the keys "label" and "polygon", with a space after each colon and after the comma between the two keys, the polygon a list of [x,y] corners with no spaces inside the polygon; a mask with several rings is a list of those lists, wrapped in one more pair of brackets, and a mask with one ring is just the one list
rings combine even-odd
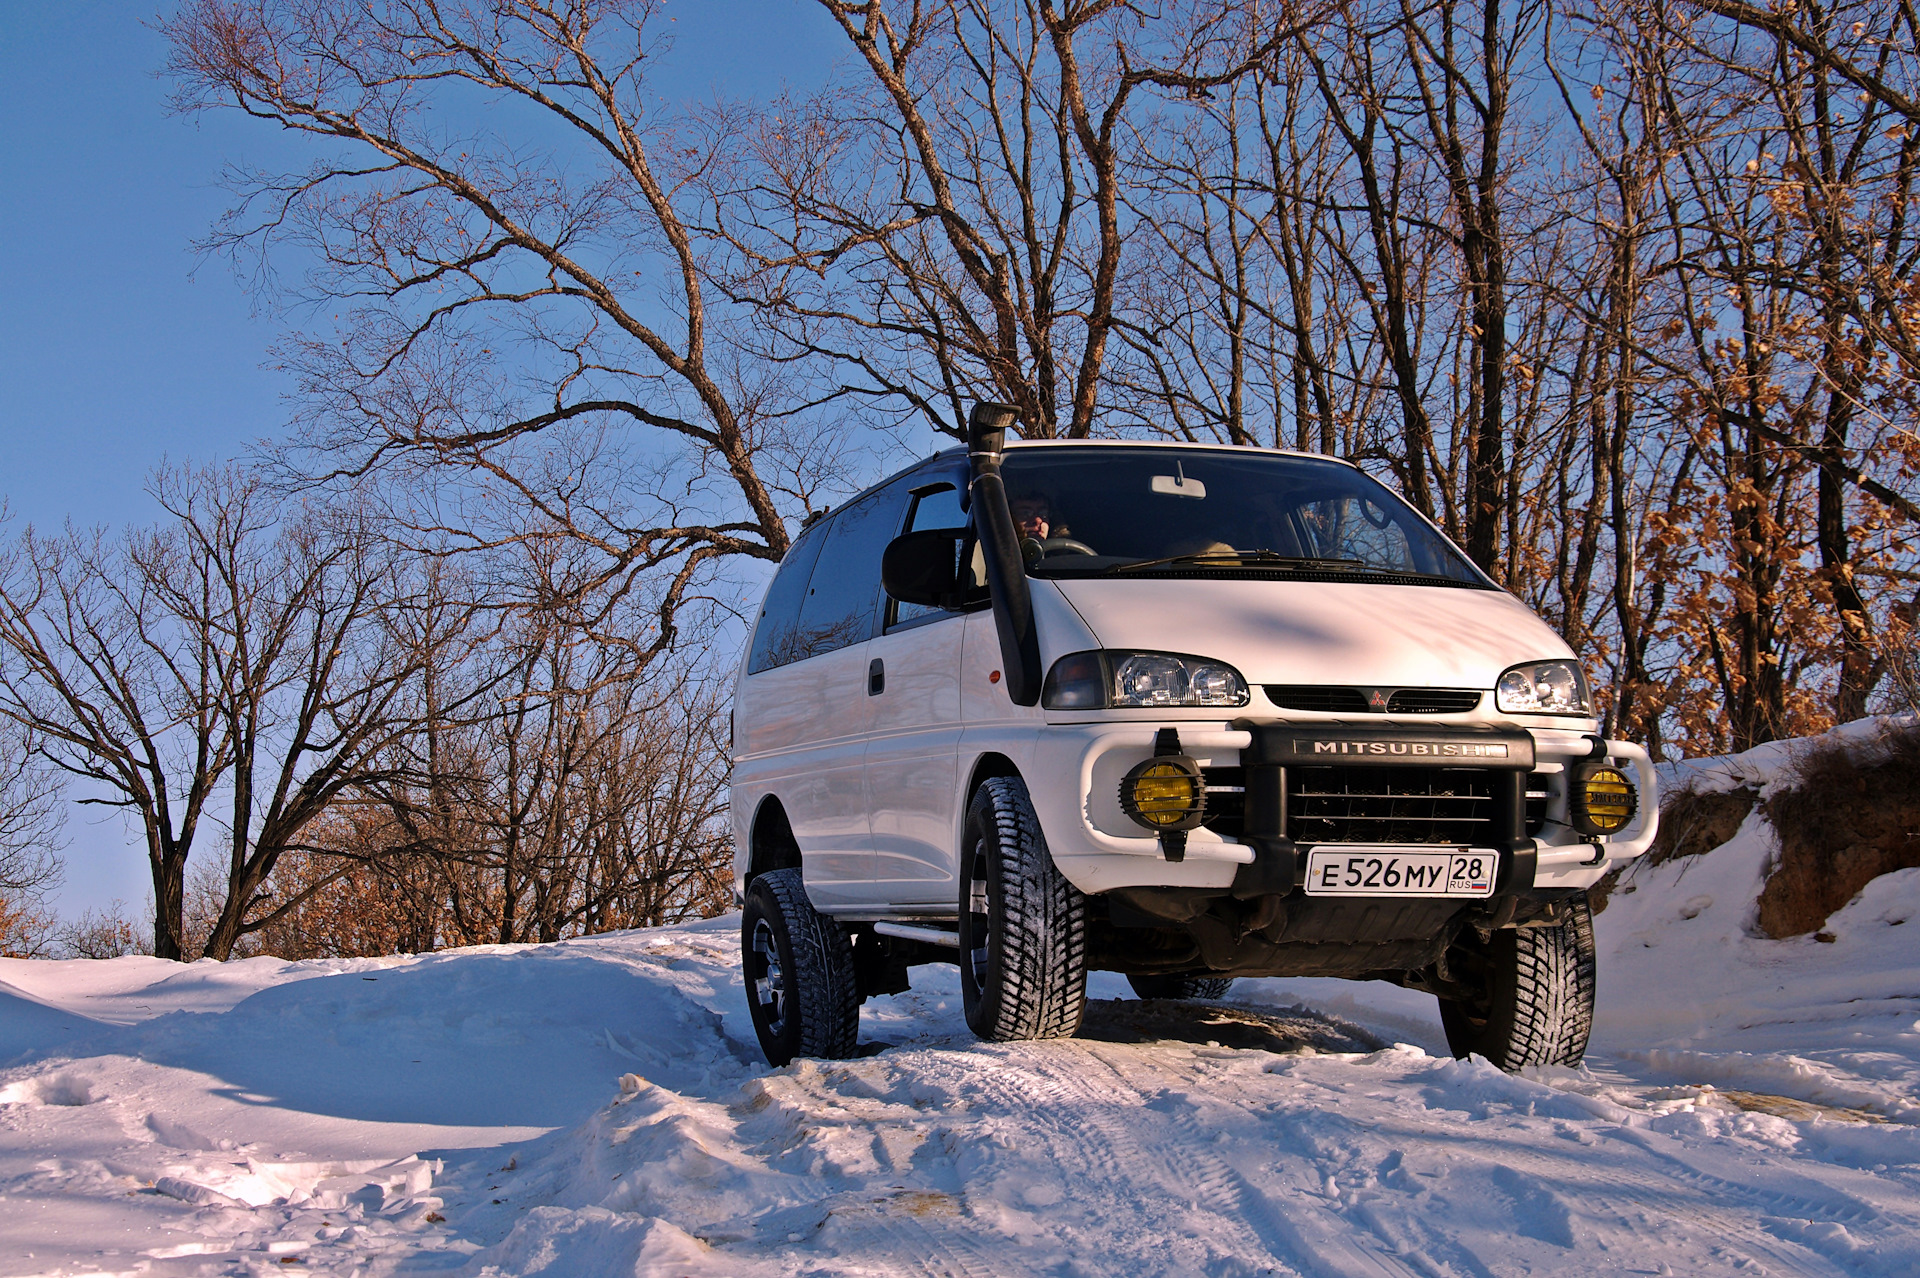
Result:
{"label": "low reddish-brown leafless thicket just left of the van", "polygon": [[578,635],[538,647],[493,683],[497,714],[440,733],[440,773],[338,804],[282,862],[276,888],[298,904],[257,944],[303,958],[559,940],[730,906],[712,691],[597,681]]}

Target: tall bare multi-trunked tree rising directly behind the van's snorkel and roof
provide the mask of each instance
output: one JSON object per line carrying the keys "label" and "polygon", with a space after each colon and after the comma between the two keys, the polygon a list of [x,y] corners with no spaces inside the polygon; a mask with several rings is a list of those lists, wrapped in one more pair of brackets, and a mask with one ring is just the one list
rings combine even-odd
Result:
{"label": "tall bare multi-trunked tree rising directly behind the van's snorkel and roof", "polygon": [[1308,17],[820,4],[860,83],[781,104],[712,184],[768,355],[824,361],[833,393],[952,436],[975,399],[1016,405],[1029,436],[1092,434],[1125,276],[1152,251],[1125,196],[1142,113],[1256,73]]}

